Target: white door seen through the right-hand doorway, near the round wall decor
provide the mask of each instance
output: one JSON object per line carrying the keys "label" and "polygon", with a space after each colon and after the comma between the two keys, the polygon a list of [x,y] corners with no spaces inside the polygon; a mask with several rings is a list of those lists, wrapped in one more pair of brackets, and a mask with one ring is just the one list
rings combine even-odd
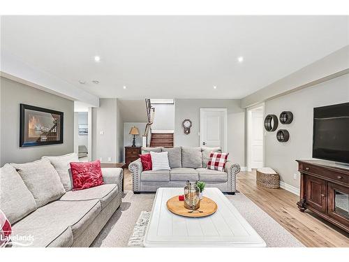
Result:
{"label": "white door seen through the right-hand doorway, near the round wall decor", "polygon": [[250,123],[249,123],[249,154],[250,154],[250,165],[249,168],[262,168],[263,163],[263,109],[256,108],[251,110]]}

